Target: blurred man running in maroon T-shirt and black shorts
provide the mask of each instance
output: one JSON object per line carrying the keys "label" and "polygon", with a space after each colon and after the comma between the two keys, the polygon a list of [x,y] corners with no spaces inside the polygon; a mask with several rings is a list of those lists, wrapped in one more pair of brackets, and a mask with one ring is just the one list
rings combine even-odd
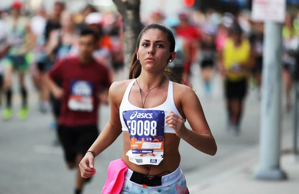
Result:
{"label": "blurred man running in maroon T-shirt and black shorts", "polygon": [[[96,37],[92,30],[82,30],[78,57],[58,61],[48,73],[47,83],[62,103],[58,136],[69,168],[78,167],[97,139],[99,103],[108,104],[111,84],[108,69],[92,57]],[[58,80],[62,83],[61,88],[55,84]],[[81,178],[78,170],[75,194],[82,193],[86,180]]]}

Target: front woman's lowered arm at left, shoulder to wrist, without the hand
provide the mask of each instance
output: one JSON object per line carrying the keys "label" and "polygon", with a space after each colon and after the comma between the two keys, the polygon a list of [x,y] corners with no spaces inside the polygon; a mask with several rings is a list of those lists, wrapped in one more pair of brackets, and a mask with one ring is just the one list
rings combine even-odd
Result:
{"label": "front woman's lowered arm at left, shoulder to wrist, without the hand", "polygon": [[94,151],[96,155],[99,155],[106,150],[106,148],[108,148],[122,133],[119,109],[116,103],[116,99],[119,98],[117,93],[118,90],[118,82],[113,82],[109,89],[110,120],[106,124],[102,133],[89,148],[89,151]]}

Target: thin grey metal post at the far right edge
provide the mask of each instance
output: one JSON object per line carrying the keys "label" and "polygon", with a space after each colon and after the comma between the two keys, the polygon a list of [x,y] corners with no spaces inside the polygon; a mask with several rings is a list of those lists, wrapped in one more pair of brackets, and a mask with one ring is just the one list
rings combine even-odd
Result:
{"label": "thin grey metal post at the far right edge", "polygon": [[298,160],[298,82],[293,82],[293,154]]}

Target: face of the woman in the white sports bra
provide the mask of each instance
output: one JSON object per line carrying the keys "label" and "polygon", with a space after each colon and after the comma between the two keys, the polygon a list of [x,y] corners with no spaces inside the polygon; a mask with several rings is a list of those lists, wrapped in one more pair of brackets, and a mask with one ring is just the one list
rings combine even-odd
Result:
{"label": "face of the woman in the white sports bra", "polygon": [[136,50],[142,68],[149,73],[164,72],[170,58],[170,43],[167,35],[158,29],[149,29],[141,37]]}

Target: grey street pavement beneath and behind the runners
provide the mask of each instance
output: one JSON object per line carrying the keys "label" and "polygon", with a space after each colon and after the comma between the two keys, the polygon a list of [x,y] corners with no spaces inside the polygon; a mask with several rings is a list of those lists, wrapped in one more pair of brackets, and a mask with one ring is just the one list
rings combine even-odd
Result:
{"label": "grey street pavement beneath and behind the runners", "polygon": [[[218,151],[215,156],[203,154],[184,141],[180,144],[181,169],[188,174],[210,167],[209,173],[187,178],[188,186],[216,176],[219,170],[213,170],[213,163],[256,146],[259,140],[260,102],[254,90],[250,90],[246,99],[241,134],[234,136],[226,130],[226,112],[223,100],[222,81],[219,76],[213,79],[213,93],[207,97],[199,76],[199,67],[192,67],[191,83],[199,96],[210,129],[216,139]],[[15,79],[14,82],[17,80]],[[61,147],[52,145],[55,131],[49,129],[52,120],[50,113],[38,111],[38,98],[32,86],[30,76],[30,114],[25,121],[15,116],[9,121],[0,120],[0,194],[67,194],[74,192],[74,173],[68,170],[63,160]],[[17,93],[17,86],[14,85]],[[186,96],[188,98],[188,96]],[[14,98],[14,112],[20,106],[20,99]],[[282,124],[291,122],[291,115],[282,109]],[[109,120],[109,106],[100,107],[100,129]],[[187,127],[190,127],[187,124]],[[101,193],[106,181],[109,162],[120,158],[123,149],[120,136],[108,149],[95,159],[97,174],[86,185],[84,194]],[[248,155],[250,158],[250,156]],[[225,170],[225,167],[223,167]]]}

